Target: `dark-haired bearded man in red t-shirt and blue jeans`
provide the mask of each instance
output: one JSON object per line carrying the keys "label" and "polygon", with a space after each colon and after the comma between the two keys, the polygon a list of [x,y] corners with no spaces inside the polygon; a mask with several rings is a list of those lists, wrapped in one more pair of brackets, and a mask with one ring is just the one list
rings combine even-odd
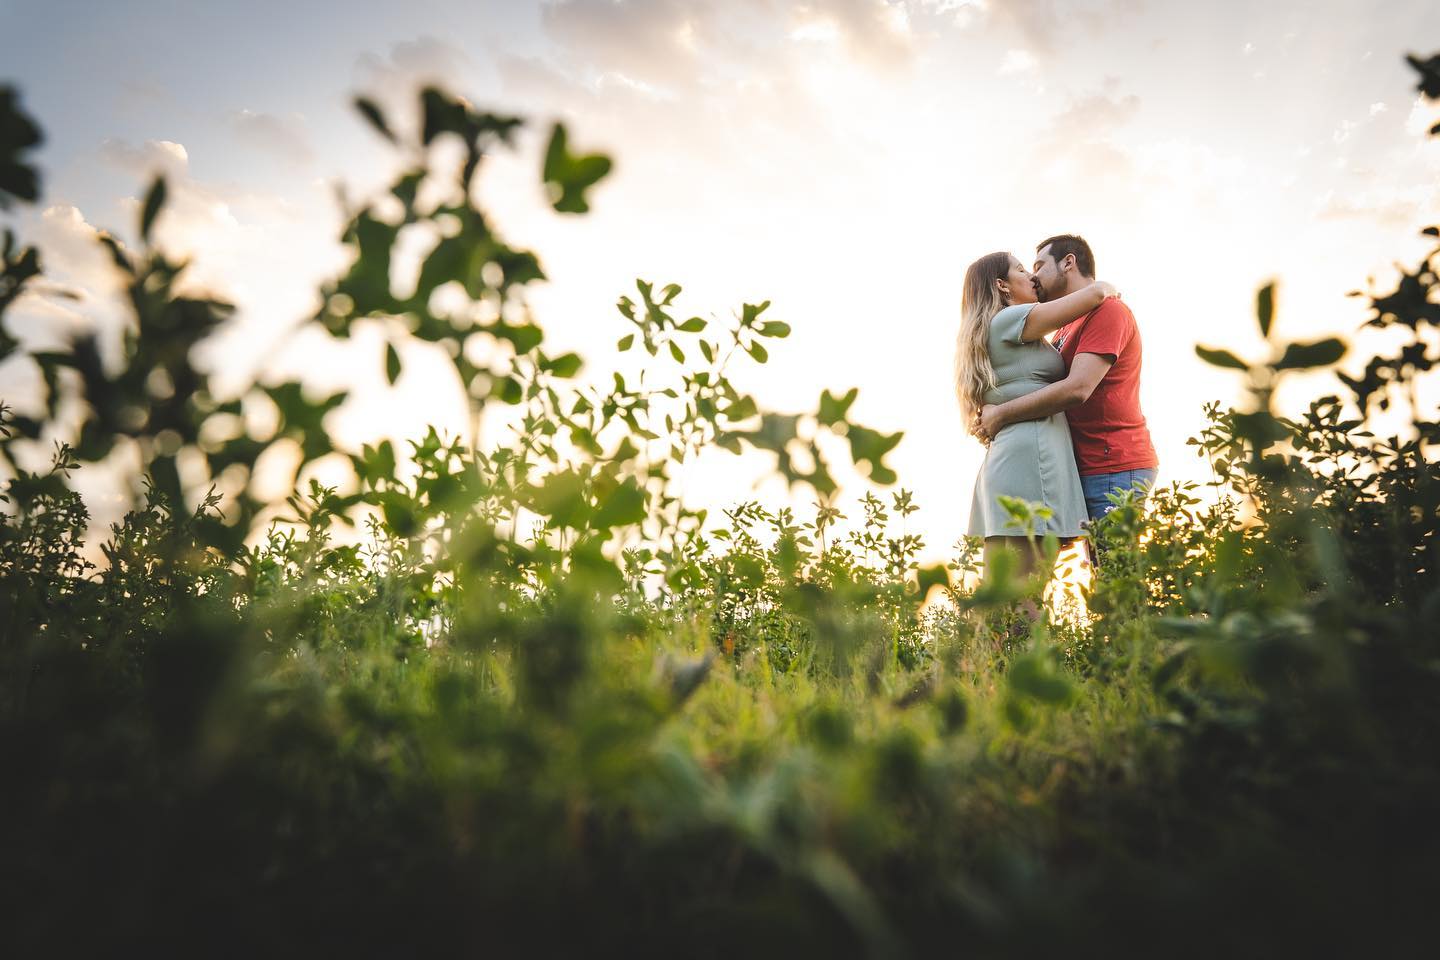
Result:
{"label": "dark-haired bearded man in red t-shirt and blue jeans", "polygon": [[[1034,285],[1041,301],[1094,282],[1094,253],[1084,239],[1064,233],[1035,250]],[[1140,330],[1130,308],[1109,298],[1057,330],[1051,343],[1064,360],[1066,379],[984,407],[976,433],[988,440],[1011,423],[1064,410],[1094,522],[1115,508],[1109,494],[1135,489],[1143,495],[1159,466],[1140,413]]]}

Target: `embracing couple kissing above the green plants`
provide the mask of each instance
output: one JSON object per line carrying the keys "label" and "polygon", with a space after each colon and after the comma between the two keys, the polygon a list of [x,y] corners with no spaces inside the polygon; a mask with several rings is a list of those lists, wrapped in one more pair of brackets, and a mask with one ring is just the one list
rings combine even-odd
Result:
{"label": "embracing couple kissing above the green plants", "polygon": [[1140,331],[1119,291],[1094,279],[1083,237],[1043,240],[1032,269],[1008,252],[971,263],[955,390],[968,429],[986,445],[968,530],[985,538],[986,571],[996,550],[1014,551],[1022,576],[1038,563],[1001,497],[1048,507],[1035,533],[1064,544],[1113,508],[1109,494],[1143,495],[1155,482]]}

